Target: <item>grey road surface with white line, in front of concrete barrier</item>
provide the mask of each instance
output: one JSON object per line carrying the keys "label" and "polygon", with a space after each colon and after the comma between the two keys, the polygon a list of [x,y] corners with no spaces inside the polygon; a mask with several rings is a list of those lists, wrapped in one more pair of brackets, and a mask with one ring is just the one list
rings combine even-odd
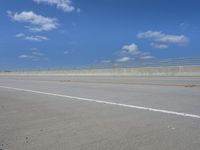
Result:
{"label": "grey road surface with white line, in front of concrete barrier", "polygon": [[198,77],[0,77],[0,150],[199,149]]}

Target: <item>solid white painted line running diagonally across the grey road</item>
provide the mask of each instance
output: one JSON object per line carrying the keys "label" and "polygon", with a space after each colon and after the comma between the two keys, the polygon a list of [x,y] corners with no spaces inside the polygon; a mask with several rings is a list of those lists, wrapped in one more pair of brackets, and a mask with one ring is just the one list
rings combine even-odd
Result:
{"label": "solid white painted line running diagonally across the grey road", "polygon": [[41,92],[41,91],[21,89],[21,88],[8,87],[8,86],[0,86],[0,88],[11,89],[11,90],[16,90],[16,91],[24,91],[24,92],[30,92],[30,93],[36,93],[36,94],[43,94],[43,95],[49,95],[49,96],[64,97],[64,98],[76,99],[76,100],[80,100],[80,101],[96,102],[96,103],[101,103],[101,104],[115,105],[115,106],[121,106],[121,107],[127,107],[127,108],[134,108],[134,109],[140,109],[140,110],[146,110],[146,111],[159,112],[159,113],[165,113],[165,114],[171,114],[171,115],[200,119],[200,116],[195,115],[195,114],[188,114],[188,113],[182,113],[182,112],[176,112],[176,111],[170,111],[170,110],[163,110],[163,109],[155,109],[155,108],[151,108],[151,107],[122,104],[122,103],[109,102],[109,101],[103,101],[103,100],[98,100],[98,99],[91,99],[91,98],[83,98],[83,97],[77,97],[77,96],[69,96],[69,95]]}

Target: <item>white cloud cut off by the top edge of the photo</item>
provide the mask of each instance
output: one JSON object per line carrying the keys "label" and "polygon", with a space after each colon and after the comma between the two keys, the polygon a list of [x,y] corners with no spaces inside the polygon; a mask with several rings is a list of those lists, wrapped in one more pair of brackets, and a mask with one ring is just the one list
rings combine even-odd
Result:
{"label": "white cloud cut off by the top edge of the photo", "polygon": [[64,12],[72,12],[75,10],[71,0],[33,0],[33,1],[38,4],[44,3],[51,6],[55,5],[58,9],[61,9]]}

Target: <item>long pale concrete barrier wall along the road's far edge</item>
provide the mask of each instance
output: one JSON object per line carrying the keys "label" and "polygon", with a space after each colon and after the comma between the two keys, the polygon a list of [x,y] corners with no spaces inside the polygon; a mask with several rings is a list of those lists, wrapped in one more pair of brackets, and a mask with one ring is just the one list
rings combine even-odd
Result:
{"label": "long pale concrete barrier wall along the road's far edge", "polygon": [[200,66],[83,69],[59,71],[9,72],[0,75],[20,76],[200,76]]}

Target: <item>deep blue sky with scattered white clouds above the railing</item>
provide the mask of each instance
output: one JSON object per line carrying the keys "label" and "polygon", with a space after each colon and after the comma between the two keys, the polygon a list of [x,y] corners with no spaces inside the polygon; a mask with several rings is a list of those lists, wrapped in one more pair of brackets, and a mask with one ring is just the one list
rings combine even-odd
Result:
{"label": "deep blue sky with scattered white clouds above the railing", "polygon": [[0,70],[200,56],[198,0],[1,0]]}

